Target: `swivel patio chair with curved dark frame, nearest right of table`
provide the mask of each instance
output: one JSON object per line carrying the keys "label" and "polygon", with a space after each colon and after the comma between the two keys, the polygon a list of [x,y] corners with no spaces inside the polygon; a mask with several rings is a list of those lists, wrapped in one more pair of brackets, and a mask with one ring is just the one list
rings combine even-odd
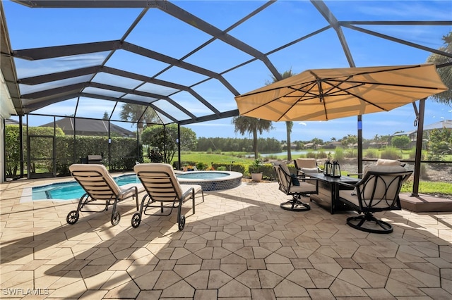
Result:
{"label": "swivel patio chair with curved dark frame, nearest right of table", "polygon": [[374,217],[374,213],[402,209],[400,188],[411,174],[412,171],[406,170],[401,165],[373,165],[355,185],[343,183],[355,189],[340,190],[338,201],[362,213],[347,218],[347,225],[365,232],[393,232],[393,226]]}

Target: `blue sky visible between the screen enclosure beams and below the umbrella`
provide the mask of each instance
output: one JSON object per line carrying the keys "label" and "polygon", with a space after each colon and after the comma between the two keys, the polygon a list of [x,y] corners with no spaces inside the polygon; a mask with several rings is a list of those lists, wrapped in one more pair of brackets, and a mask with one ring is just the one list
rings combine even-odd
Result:
{"label": "blue sky visible between the screen enclosure beams and below the umbrella", "polygon": [[[230,27],[244,15],[265,3],[265,1],[220,0],[173,2],[221,30]],[[119,39],[142,11],[133,8],[109,9],[102,12],[96,9],[31,9],[11,1],[3,1],[3,3],[13,49]],[[325,4],[338,20],[452,19],[452,1],[449,0],[325,1]],[[179,24],[178,21],[174,22],[174,18],[161,11],[150,10],[145,18],[155,22],[153,23],[155,26],[149,30],[149,27],[138,25],[138,28],[126,40],[168,56],[182,57],[210,38],[206,33],[199,32],[194,27]],[[319,30],[325,25],[325,19],[319,15],[309,1],[278,1],[229,33],[266,53],[307,35],[309,32]],[[409,28],[406,26],[377,27],[369,25],[367,28],[433,49],[442,46],[441,37],[452,30],[450,25],[413,26]],[[171,32],[171,35],[168,32]],[[345,29],[343,32],[357,67],[425,63],[429,56],[427,51],[388,42],[385,39],[364,36],[362,33],[353,30]],[[212,55],[215,53],[224,54],[228,59],[218,59],[217,56]],[[289,69],[292,69],[292,73],[297,74],[309,68],[344,68],[349,66],[337,35],[332,29],[290,46],[285,51],[270,54],[268,57],[281,73]],[[95,58],[91,57],[90,59],[94,60]],[[97,59],[102,59],[102,56]],[[133,71],[133,68],[141,68],[141,70],[145,68],[150,76],[165,68],[163,63],[157,61],[145,62],[134,61],[134,59],[127,54],[121,54],[121,56],[112,60],[112,65],[117,68],[124,67],[130,71]],[[198,54],[186,58],[186,61],[215,72],[222,72],[232,65],[237,65],[248,59],[248,56],[237,51],[237,49],[231,49],[230,46],[214,42],[205,51],[200,51]],[[25,77],[25,75],[30,75],[36,70],[42,71],[46,68],[52,70],[53,68],[44,63],[41,63],[38,67],[36,64],[27,65],[27,63],[16,62],[18,75]],[[64,63],[67,64],[69,61],[64,61]],[[171,70],[157,78],[172,80],[174,77],[177,77],[180,83],[184,85],[191,85],[196,80],[201,80],[201,77],[196,78],[196,76],[183,72],[177,73],[177,70]],[[266,85],[271,80],[270,71],[264,68],[262,63],[251,63],[246,65],[240,73],[232,71],[225,73],[224,77],[231,82],[240,94]],[[102,78],[99,78],[99,80],[102,80]],[[203,95],[207,95],[209,100],[213,100],[215,105],[222,110],[237,108],[233,95],[218,83],[210,81],[196,86],[194,89],[199,89],[200,93],[202,91]],[[187,103],[187,105],[189,103],[188,101],[184,102],[186,101],[184,96],[180,96],[176,100],[183,104]],[[78,107],[78,115],[101,118],[104,111],[112,109],[113,106],[108,101],[95,101],[95,105],[93,105],[92,99],[81,100],[82,104],[88,102],[90,106],[81,105]],[[69,115],[75,103],[75,100],[67,100],[58,105],[42,108],[37,113],[61,114],[61,111],[64,111]],[[190,109],[201,114],[205,108],[194,106]],[[428,125],[445,119],[452,120],[452,107],[428,99],[424,124]],[[415,111],[411,104],[388,113],[363,115],[362,120],[363,137],[366,139],[371,139],[375,135],[392,135],[396,131],[416,129],[413,126]],[[30,120],[30,125],[41,125],[49,121],[46,118],[37,118]],[[122,126],[128,127],[127,125]],[[242,137],[242,135],[234,133],[230,118],[196,123],[187,125],[187,127],[194,130],[198,137]],[[285,140],[285,123],[273,123],[273,127],[273,130],[264,132],[261,137]],[[356,133],[356,117],[329,120],[328,122],[295,122],[292,129],[292,141],[310,140],[314,137],[328,141],[332,137],[340,139],[347,135],[356,135]]]}

